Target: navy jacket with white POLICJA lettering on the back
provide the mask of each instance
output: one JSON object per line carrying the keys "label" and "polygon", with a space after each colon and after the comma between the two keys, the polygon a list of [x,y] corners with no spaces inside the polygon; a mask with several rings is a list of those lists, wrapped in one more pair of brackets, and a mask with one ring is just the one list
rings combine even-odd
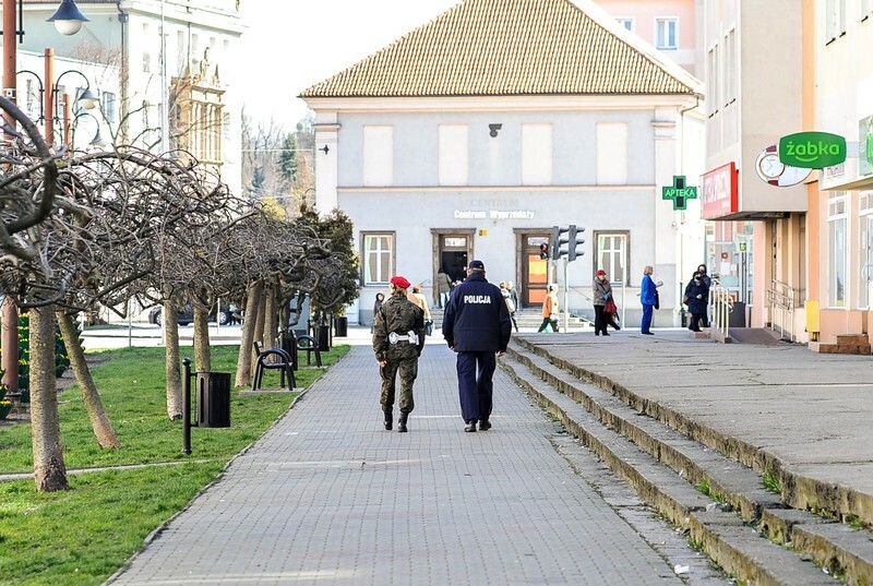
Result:
{"label": "navy jacket with white POLICJA lettering on the back", "polygon": [[443,315],[443,337],[458,352],[506,351],[510,310],[500,289],[473,272],[455,287]]}

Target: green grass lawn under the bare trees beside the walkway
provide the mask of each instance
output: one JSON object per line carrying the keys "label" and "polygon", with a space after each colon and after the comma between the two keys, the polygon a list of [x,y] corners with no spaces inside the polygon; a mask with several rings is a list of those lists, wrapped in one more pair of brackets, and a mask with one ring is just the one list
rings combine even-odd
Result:
{"label": "green grass lawn under the bare trees beside the walkway", "polygon": [[[192,356],[190,349],[182,351]],[[348,346],[335,346],[322,356],[325,366],[347,351]],[[236,346],[214,347],[212,370],[230,372],[232,381],[237,352]],[[64,492],[37,493],[32,479],[0,482],[0,584],[103,583],[297,396],[239,396],[239,390],[232,391],[231,427],[192,429],[192,454],[187,456],[181,451],[181,422],[167,419],[164,350],[127,348],[97,356],[108,359],[94,369],[94,379],[122,447],[97,446],[73,386],[58,397],[67,468],[151,466],[70,475],[71,490]],[[307,387],[321,373],[301,368],[295,373],[297,385]],[[264,387],[271,385],[278,386],[277,371],[264,376]],[[32,470],[29,426],[0,428],[0,474]]]}

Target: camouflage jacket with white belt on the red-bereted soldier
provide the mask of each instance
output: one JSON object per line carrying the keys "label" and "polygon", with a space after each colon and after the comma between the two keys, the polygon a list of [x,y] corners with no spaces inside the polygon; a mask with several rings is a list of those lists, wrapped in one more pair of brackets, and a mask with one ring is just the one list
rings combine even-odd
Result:
{"label": "camouflage jacket with white belt on the red-bereted soldier", "polygon": [[[391,344],[388,334],[396,332],[406,336],[409,332],[418,334],[418,344],[398,342]],[[409,301],[403,291],[396,291],[382,303],[373,316],[373,351],[375,359],[392,360],[417,357],[424,347],[424,312]]]}

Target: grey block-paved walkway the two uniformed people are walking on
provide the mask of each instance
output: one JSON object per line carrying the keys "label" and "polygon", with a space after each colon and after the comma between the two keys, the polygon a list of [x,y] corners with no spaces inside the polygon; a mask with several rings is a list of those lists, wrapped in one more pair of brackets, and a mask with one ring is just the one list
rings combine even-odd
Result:
{"label": "grey block-paved walkway the two uniformed people are walking on", "polygon": [[172,519],[118,585],[682,584],[575,474],[502,371],[464,433],[454,355],[426,348],[409,433],[384,431],[368,332]]}

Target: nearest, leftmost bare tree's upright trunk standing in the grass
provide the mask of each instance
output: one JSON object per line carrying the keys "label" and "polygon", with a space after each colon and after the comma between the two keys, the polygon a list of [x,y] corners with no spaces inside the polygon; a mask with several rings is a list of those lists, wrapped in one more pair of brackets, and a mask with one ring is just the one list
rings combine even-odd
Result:
{"label": "nearest, leftmost bare tree's upright trunk standing in the grass", "polygon": [[36,490],[69,490],[58,421],[55,375],[55,311],[34,308],[31,314],[31,434]]}

